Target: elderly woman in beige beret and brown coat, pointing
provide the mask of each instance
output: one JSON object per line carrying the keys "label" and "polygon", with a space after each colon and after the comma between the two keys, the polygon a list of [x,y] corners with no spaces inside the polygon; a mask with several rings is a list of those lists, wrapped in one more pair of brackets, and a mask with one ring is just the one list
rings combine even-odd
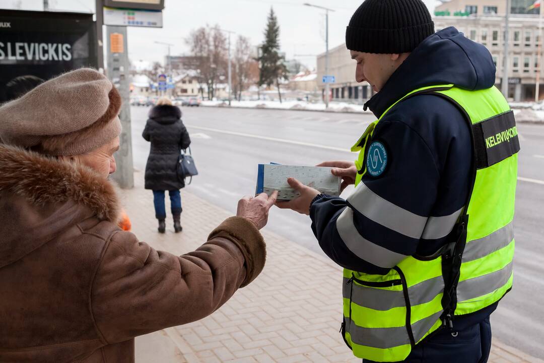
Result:
{"label": "elderly woman in beige beret and brown coat, pointing", "polygon": [[209,315],[263,268],[274,196],[183,256],[119,229],[120,103],[81,69],[0,107],[0,361],[132,362],[135,336]]}

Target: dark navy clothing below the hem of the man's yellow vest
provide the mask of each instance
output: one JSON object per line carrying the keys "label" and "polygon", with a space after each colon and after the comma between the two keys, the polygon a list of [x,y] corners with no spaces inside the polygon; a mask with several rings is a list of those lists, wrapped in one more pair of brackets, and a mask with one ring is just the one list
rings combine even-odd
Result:
{"label": "dark navy clothing below the hem of the man's yellow vest", "polygon": [[[479,324],[458,331],[443,329],[417,344],[404,363],[485,363],[491,350],[489,316]],[[372,361],[363,359],[363,363]]]}

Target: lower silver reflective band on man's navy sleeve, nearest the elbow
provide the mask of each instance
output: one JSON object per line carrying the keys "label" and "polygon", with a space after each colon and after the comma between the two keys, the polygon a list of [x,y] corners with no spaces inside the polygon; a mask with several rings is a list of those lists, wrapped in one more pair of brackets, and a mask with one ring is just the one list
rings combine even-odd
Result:
{"label": "lower silver reflective band on man's navy sleeve, nearest the elbow", "polygon": [[378,267],[392,268],[407,257],[372,243],[361,236],[353,224],[353,210],[350,207],[345,207],[336,220],[336,229],[351,252]]}

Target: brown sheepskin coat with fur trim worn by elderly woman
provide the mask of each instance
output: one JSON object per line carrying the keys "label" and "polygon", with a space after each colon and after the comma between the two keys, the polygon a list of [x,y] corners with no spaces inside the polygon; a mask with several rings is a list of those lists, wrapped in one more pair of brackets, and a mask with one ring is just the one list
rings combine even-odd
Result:
{"label": "brown sheepskin coat with fur trim worn by elderly woman", "polygon": [[175,256],[118,213],[91,170],[0,144],[1,362],[133,362],[135,336],[209,315],[264,266],[246,219]]}

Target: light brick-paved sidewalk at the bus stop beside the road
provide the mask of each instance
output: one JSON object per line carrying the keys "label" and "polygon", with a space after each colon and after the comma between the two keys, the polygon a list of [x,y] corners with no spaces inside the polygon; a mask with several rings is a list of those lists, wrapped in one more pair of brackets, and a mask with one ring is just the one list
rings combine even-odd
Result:
{"label": "light brick-paved sidewalk at the bus stop beside the road", "polygon": [[[172,220],[157,233],[152,193],[136,187],[122,192],[133,232],[159,250],[183,254],[206,242],[229,214],[182,190],[183,232]],[[167,208],[168,209],[168,208]],[[273,213],[287,213],[275,210]],[[342,273],[336,264],[266,228],[267,264],[258,278],[201,321],[136,339],[138,363],[155,362],[360,362],[338,333]],[[317,242],[316,242],[317,243]],[[493,341],[491,363],[544,363]]]}

